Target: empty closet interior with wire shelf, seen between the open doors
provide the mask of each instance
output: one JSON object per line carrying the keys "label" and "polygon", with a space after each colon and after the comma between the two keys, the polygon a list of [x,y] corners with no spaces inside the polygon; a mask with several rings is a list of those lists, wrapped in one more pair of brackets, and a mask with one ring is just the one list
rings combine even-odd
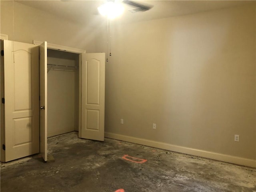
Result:
{"label": "empty closet interior with wire shelf, seen between the open doors", "polygon": [[47,50],[47,137],[78,131],[79,54]]}

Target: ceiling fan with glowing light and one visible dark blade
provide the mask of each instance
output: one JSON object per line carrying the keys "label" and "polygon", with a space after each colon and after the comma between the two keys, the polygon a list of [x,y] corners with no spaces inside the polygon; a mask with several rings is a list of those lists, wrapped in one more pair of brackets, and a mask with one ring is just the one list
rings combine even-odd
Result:
{"label": "ceiling fan with glowing light and one visible dark blade", "polygon": [[103,16],[108,16],[108,18],[115,18],[124,12],[124,6],[121,3],[132,6],[133,8],[129,9],[132,13],[148,11],[153,7],[133,0],[106,0],[104,4],[98,7],[98,12]]}

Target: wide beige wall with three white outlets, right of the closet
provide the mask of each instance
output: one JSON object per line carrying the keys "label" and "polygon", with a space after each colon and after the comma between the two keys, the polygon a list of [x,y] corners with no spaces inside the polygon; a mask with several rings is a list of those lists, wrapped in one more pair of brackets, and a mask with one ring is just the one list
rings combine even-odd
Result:
{"label": "wide beige wall with three white outlets, right of the closet", "polygon": [[106,132],[255,159],[255,14],[252,2],[113,26]]}

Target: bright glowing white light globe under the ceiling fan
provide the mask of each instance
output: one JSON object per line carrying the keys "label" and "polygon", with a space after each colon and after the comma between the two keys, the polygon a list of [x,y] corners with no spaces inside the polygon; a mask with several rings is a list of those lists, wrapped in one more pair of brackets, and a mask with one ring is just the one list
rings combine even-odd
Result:
{"label": "bright glowing white light globe under the ceiling fan", "polygon": [[99,6],[98,11],[101,15],[107,16],[109,19],[114,19],[122,15],[124,12],[124,7],[120,3],[111,0]]}

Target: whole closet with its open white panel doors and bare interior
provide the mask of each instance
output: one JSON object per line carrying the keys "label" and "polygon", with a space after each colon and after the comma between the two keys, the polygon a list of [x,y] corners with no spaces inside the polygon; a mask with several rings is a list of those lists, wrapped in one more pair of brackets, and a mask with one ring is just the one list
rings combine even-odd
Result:
{"label": "whole closet with its open white panel doors and bare interior", "polygon": [[1,162],[36,153],[47,161],[47,137],[71,131],[104,141],[105,53],[0,43]]}

